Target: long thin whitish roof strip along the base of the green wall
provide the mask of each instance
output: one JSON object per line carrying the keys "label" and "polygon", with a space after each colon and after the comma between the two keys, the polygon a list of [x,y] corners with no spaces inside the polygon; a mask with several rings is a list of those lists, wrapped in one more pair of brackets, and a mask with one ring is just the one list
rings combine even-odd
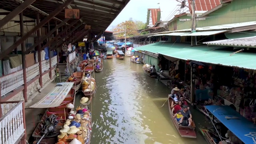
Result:
{"label": "long thin whitish roof strip along the base of the green wall", "polygon": [[[234,23],[234,24],[222,24],[222,25],[217,25],[217,26],[206,26],[202,28],[196,28],[196,30],[223,30],[223,29],[231,29],[231,28],[238,28],[238,27],[243,27],[243,26],[252,26],[256,25],[256,21],[252,22],[241,22],[241,23]],[[186,31],[191,31],[191,28],[188,29],[183,29],[183,30],[174,30],[172,32],[186,32]]]}

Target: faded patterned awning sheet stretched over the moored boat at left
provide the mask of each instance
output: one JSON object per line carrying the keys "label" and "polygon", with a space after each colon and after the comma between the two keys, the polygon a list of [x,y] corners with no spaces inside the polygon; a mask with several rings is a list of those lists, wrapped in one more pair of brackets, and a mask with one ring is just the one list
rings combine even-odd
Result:
{"label": "faded patterned awning sheet stretched over the moored boat at left", "polygon": [[36,104],[30,106],[30,108],[54,108],[60,106],[73,84],[74,82],[61,82],[56,84],[49,94]]}

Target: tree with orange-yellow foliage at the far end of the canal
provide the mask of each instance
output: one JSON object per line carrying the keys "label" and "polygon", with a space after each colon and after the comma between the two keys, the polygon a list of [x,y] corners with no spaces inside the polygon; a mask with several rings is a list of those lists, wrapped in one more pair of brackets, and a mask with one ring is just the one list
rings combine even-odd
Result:
{"label": "tree with orange-yellow foliage at the far end of the canal", "polygon": [[124,28],[126,26],[126,37],[139,35],[137,32],[137,26],[134,21],[127,20],[125,22],[121,22],[115,28],[113,28],[113,32],[116,33],[116,38],[124,38]]}

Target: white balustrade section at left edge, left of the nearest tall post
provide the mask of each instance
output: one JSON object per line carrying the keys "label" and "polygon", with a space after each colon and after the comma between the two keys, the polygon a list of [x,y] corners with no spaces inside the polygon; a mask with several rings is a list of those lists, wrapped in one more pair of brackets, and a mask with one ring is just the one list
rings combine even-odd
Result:
{"label": "white balustrade section at left edge, left of the nearest tall post", "polygon": [[24,84],[23,70],[7,74],[6,76],[0,77],[1,82],[1,96],[8,92],[18,88]]}

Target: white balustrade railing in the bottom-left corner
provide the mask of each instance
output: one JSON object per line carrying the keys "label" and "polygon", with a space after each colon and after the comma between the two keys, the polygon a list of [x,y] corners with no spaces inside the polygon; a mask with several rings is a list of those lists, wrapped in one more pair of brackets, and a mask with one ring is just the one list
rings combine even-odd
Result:
{"label": "white balustrade railing in the bottom-left corner", "polygon": [[[2,116],[0,118],[0,144],[14,144],[25,132],[24,102],[0,102],[0,105],[2,108]],[[14,106],[8,110],[6,109],[7,105]]]}

